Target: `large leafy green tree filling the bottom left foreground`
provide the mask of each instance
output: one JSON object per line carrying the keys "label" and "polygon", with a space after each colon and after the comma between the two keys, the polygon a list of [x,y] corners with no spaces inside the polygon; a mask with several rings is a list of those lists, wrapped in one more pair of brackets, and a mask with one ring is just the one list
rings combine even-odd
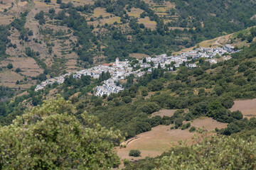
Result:
{"label": "large leafy green tree filling the bottom left foreground", "polygon": [[0,130],[1,169],[109,169],[122,136],[63,98],[45,101]]}

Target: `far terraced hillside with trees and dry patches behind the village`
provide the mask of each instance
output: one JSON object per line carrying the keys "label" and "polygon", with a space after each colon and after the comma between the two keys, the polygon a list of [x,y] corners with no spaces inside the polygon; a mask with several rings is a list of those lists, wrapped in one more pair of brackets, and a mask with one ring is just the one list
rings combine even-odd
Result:
{"label": "far terraced hillside with trees and dry patches behind the village", "polygon": [[[45,77],[116,57],[170,54],[255,26],[254,1],[199,4],[193,0],[3,0],[0,83],[29,89]],[[6,69],[7,64],[14,67]]]}

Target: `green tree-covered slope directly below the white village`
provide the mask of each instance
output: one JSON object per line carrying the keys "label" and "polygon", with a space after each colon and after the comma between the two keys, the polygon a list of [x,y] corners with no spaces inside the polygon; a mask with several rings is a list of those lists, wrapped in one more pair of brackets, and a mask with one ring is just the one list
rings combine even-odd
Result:
{"label": "green tree-covered slope directly below the white village", "polygon": [[[235,99],[256,98],[255,47],[252,44],[233,55],[231,60],[218,64],[210,65],[200,59],[197,61],[200,67],[195,69],[181,66],[177,72],[168,72],[159,68],[137,80],[130,76],[122,83],[126,90],[102,98],[92,95],[93,88],[101,84],[102,80],[67,77],[60,86],[53,84],[37,92],[31,88],[27,95],[17,97],[12,103],[6,102],[6,114],[1,118],[1,123],[9,125],[15,115],[22,114],[26,103],[40,105],[44,98],[48,98],[50,91],[56,89],[75,104],[78,118],[87,111],[97,116],[101,125],[119,129],[127,137],[151,130],[156,125],[174,123],[175,128],[180,128],[182,120],[201,116],[230,123],[226,130],[219,131],[220,134],[230,135],[246,127],[253,129],[253,119],[242,119],[240,111],[231,112],[228,109],[233,106]],[[26,102],[21,103],[24,100]],[[171,118],[149,118],[151,113],[161,108],[188,108],[189,112],[177,111]]]}

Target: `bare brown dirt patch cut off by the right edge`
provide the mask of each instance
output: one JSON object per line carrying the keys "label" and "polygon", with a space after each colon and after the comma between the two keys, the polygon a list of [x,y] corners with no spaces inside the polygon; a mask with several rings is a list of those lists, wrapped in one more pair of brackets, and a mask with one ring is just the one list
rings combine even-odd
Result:
{"label": "bare brown dirt patch cut off by the right edge", "polygon": [[230,111],[241,111],[244,118],[252,118],[256,116],[256,98],[245,101],[235,101]]}

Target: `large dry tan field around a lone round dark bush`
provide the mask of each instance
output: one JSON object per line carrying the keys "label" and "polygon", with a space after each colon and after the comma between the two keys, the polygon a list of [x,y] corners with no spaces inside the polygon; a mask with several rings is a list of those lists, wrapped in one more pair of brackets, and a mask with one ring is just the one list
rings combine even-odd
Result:
{"label": "large dry tan field around a lone round dark bush", "polygon": [[[191,140],[194,132],[188,132],[187,130],[170,128],[173,125],[159,125],[152,128],[149,132],[144,132],[137,135],[137,139],[132,140],[127,144],[127,141],[123,144],[127,144],[125,148],[117,148],[117,154],[121,159],[137,160],[145,157],[156,157],[161,153],[167,151],[172,145],[177,145],[179,140]],[[203,128],[211,131],[215,128],[226,128],[227,123],[219,123],[212,118],[201,118],[191,122],[191,126]],[[188,142],[189,143],[189,142]],[[131,149],[139,149],[142,152],[142,157],[129,157],[129,151]]]}

